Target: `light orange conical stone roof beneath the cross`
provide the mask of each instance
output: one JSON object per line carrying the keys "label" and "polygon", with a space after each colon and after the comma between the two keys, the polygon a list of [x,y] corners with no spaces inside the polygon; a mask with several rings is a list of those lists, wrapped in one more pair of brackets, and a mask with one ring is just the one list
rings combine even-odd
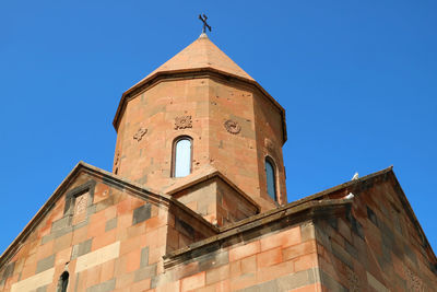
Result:
{"label": "light orange conical stone roof beneath the cross", "polygon": [[163,63],[143,80],[158,72],[185,71],[201,68],[213,68],[225,73],[255,81],[227,57],[226,54],[215,46],[206,34],[201,34],[191,45],[179,51],[175,57]]}

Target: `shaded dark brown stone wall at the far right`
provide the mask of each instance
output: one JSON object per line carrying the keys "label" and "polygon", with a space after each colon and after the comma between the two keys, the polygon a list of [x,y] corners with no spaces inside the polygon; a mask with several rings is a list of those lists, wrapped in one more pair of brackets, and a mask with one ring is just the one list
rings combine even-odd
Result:
{"label": "shaded dark brown stone wall at the far right", "polygon": [[327,291],[437,291],[430,257],[392,185],[380,180],[352,190],[350,215],[317,221]]}

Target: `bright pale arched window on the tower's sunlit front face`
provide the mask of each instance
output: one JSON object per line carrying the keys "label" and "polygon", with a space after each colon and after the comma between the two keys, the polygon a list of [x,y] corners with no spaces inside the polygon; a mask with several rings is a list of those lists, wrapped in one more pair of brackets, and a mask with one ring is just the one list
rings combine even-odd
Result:
{"label": "bright pale arched window on the tower's sunlit front face", "polygon": [[191,173],[192,139],[179,137],[173,145],[173,176],[184,177]]}

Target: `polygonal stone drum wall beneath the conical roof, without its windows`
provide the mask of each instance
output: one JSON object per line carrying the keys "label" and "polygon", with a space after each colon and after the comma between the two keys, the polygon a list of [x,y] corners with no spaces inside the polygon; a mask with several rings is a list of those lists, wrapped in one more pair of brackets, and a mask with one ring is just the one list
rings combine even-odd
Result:
{"label": "polygonal stone drum wall beneath the conical roof, without its windows", "polygon": [[215,167],[262,210],[276,207],[267,195],[270,155],[279,202],[286,202],[281,113],[253,86],[203,75],[158,81],[138,93],[121,116],[114,173],[164,191],[181,179],[172,177],[173,144],[180,136],[193,140],[192,174]]}

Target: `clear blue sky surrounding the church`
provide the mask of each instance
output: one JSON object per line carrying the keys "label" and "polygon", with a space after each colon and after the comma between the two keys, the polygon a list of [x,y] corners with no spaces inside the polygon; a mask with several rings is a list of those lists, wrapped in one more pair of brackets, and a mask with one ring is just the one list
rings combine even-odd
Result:
{"label": "clear blue sky surrounding the church", "polygon": [[17,0],[0,2],[1,252],[79,161],[111,170],[121,93],[200,12],[286,109],[288,201],[393,164],[437,248],[436,1]]}

